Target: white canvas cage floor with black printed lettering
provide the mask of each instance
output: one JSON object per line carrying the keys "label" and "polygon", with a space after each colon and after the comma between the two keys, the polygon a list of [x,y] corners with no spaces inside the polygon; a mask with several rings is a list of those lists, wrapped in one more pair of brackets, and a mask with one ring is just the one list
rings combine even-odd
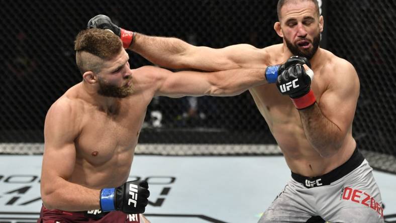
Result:
{"label": "white canvas cage floor with black printed lettering", "polygon": [[[0,155],[0,223],[35,222],[41,156]],[[396,222],[396,175],[374,171],[387,222]],[[137,155],[130,179],[147,179],[152,223],[257,222],[290,178],[281,156]],[[395,216],[391,218],[391,216]]]}

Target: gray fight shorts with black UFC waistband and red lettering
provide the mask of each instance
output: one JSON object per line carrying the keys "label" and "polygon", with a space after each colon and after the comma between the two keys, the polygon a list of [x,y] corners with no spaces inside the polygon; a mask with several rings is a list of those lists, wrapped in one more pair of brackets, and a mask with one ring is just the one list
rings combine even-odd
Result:
{"label": "gray fight shorts with black UFC waistband and red lettering", "polygon": [[384,222],[381,204],[372,168],[355,150],[348,161],[325,175],[310,178],[291,173],[259,223]]}

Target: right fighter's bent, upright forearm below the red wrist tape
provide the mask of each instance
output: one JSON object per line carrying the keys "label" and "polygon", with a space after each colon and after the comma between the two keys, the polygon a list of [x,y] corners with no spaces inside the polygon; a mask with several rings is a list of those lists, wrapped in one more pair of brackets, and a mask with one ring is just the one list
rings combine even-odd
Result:
{"label": "right fighter's bent, upright forearm below the red wrist tape", "polygon": [[322,157],[334,155],[345,138],[340,128],[327,119],[318,104],[299,110],[305,135]]}

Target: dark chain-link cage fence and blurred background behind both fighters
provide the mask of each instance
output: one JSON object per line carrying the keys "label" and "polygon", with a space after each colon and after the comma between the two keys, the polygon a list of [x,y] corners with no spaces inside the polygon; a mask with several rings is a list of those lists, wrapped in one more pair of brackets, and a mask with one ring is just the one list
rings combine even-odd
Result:
{"label": "dark chain-link cage fence and blurred background behind both fighters", "polygon": [[[281,43],[273,30],[276,3],[0,1],[0,152],[42,153],[48,108],[82,80],[73,41],[91,17],[105,14],[125,29],[177,37],[197,46],[248,43],[263,48]],[[325,16],[321,47],[350,61],[360,77],[353,124],[358,148],[374,168],[396,172],[396,2],[319,3]],[[132,68],[151,65],[136,53],[129,54]],[[276,142],[249,92],[234,97],[156,97],[148,107],[139,142],[137,153],[143,154],[280,154],[273,149]],[[215,149],[207,149],[208,144]]]}

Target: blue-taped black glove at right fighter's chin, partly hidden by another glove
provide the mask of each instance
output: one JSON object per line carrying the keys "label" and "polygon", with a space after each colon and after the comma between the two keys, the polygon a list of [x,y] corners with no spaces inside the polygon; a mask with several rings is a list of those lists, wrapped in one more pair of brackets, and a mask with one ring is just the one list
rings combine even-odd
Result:
{"label": "blue-taped black glove at right fighter's chin, partly hidden by another glove", "polygon": [[265,79],[267,79],[268,83],[276,83],[278,75],[280,75],[285,69],[293,64],[307,64],[307,66],[311,68],[311,63],[307,58],[302,56],[292,56],[287,59],[286,63],[284,64],[268,66],[265,68]]}

